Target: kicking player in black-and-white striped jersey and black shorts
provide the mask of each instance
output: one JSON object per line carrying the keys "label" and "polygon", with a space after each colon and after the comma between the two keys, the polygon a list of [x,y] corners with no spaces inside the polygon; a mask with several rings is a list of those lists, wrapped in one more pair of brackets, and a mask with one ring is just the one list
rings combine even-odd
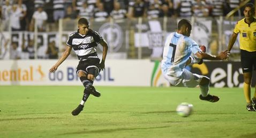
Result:
{"label": "kicking player in black-and-white striped jersey and black shorts", "polygon": [[[96,52],[96,47],[99,43],[103,47],[101,63]],[[78,30],[70,34],[66,45],[67,48],[63,55],[61,58],[59,58],[58,62],[50,68],[49,71],[55,72],[58,66],[61,65],[67,56],[70,55],[73,48],[79,59],[77,75],[85,87],[84,96],[82,97],[81,103],[72,111],[72,115],[77,116],[83,110],[85,102],[90,94],[96,97],[101,96],[99,91],[95,90],[93,81],[95,77],[99,75],[100,71],[105,68],[108,44],[99,33],[89,28],[89,22],[86,18],[80,18],[78,20]]]}

